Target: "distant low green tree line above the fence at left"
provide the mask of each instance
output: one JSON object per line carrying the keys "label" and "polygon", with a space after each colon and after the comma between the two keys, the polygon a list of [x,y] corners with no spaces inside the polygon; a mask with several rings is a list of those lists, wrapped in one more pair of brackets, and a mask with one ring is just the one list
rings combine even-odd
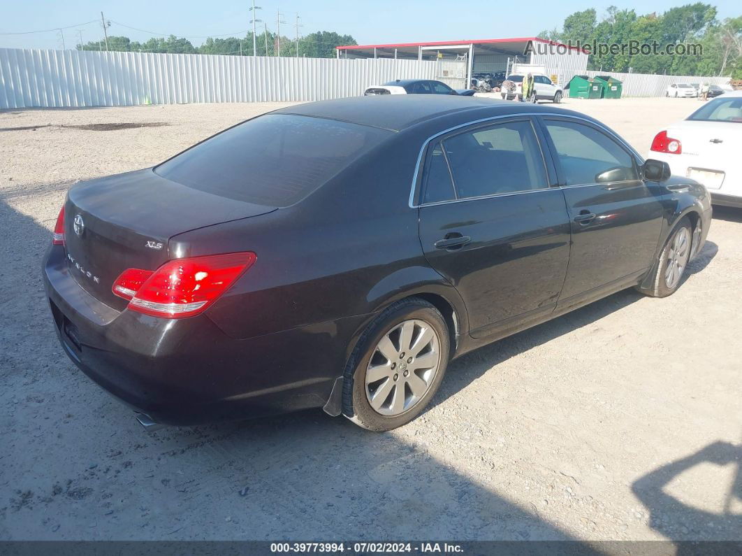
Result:
{"label": "distant low green tree line above the fence at left", "polygon": [[[279,37],[276,33],[266,31],[255,34],[257,56],[277,56],[280,45],[280,56],[296,56],[297,43],[295,39],[286,36]],[[299,39],[299,56],[308,58],[335,58],[335,47],[341,45],[356,45],[350,35],[340,35],[333,31],[318,31],[309,33]],[[77,50],[106,50],[105,40],[91,41],[77,45]],[[132,41],[128,36],[109,36],[108,50],[116,52],[156,52],[171,54],[226,54],[228,56],[252,56],[252,31],[244,38],[226,37],[206,39],[200,46],[194,46],[188,39],[174,35],[167,38],[156,37],[145,42]]]}

